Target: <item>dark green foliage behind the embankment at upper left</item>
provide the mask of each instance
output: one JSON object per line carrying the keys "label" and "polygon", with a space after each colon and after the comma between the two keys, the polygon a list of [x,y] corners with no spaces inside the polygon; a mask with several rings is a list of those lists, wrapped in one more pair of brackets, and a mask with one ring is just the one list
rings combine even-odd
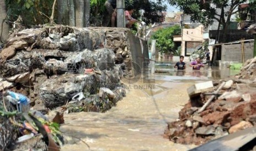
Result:
{"label": "dark green foliage behind the embankment at upper left", "polygon": [[[14,22],[19,15],[23,19],[21,24],[30,25],[46,24],[52,13],[54,0],[5,0],[8,10],[8,20]],[[42,15],[42,12],[45,15]]]}

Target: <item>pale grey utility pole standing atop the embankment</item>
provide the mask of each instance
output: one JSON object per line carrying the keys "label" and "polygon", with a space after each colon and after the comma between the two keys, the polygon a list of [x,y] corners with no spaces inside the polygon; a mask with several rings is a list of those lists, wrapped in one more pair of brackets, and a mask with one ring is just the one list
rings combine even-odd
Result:
{"label": "pale grey utility pole standing atop the embankment", "polygon": [[117,0],[117,27],[124,28],[124,0]]}

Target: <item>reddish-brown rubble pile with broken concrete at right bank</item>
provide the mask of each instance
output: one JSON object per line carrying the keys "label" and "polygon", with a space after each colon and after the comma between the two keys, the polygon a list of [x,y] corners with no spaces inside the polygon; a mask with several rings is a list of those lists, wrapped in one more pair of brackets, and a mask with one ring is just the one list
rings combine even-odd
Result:
{"label": "reddish-brown rubble pile with broken concrete at right bank", "polygon": [[182,144],[203,144],[256,125],[256,57],[227,80],[198,83],[188,89],[189,102],[165,138]]}

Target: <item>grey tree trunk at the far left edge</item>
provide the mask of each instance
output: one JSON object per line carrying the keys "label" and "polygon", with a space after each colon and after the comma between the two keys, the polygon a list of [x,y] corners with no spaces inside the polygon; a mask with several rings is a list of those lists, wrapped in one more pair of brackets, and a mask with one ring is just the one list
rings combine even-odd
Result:
{"label": "grey tree trunk at the far left edge", "polygon": [[6,11],[6,3],[4,0],[0,0],[0,41],[6,42],[9,33],[9,26],[6,24],[7,11]]}

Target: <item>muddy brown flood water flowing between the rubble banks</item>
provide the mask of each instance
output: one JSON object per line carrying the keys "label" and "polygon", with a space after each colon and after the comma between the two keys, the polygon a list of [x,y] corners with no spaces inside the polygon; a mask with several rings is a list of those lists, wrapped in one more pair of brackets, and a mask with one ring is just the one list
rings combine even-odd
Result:
{"label": "muddy brown flood water flowing between the rubble banks", "polygon": [[206,66],[200,71],[177,72],[172,63],[156,65],[154,84],[139,80],[128,85],[127,96],[106,113],[66,114],[61,131],[68,144],[61,150],[188,150],[194,145],[175,144],[163,138],[168,121],[189,100],[194,83],[225,79],[239,71]]}

